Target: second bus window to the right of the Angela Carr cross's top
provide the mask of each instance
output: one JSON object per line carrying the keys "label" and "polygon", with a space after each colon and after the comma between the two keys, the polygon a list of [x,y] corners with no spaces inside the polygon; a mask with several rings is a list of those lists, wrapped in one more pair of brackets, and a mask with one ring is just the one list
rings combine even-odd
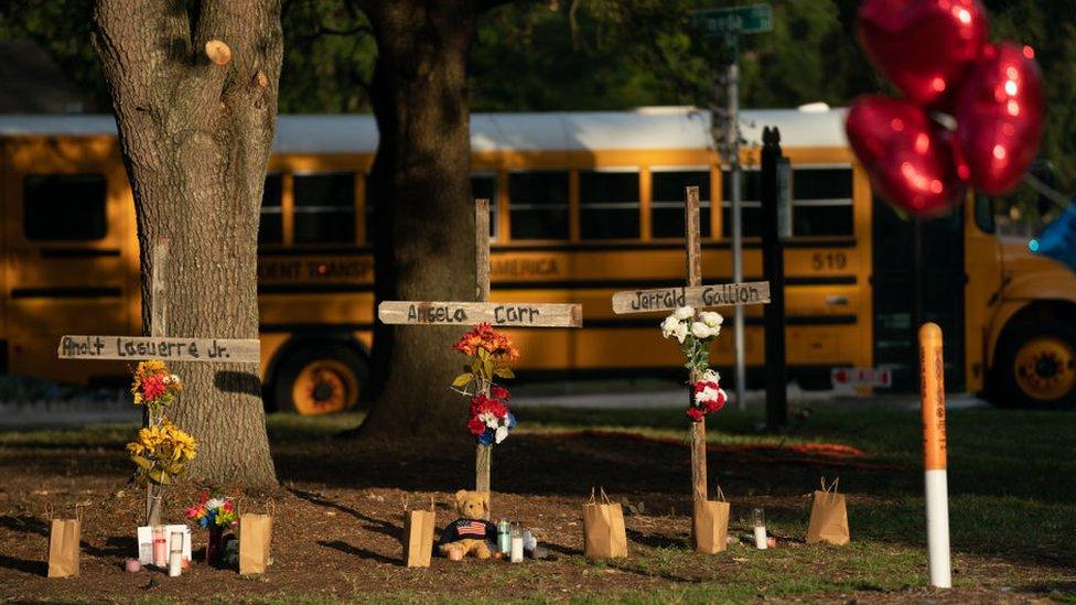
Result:
{"label": "second bus window to the right of the Angela Carr cross's top", "polygon": [[639,236],[638,172],[579,173],[579,235],[582,239]]}

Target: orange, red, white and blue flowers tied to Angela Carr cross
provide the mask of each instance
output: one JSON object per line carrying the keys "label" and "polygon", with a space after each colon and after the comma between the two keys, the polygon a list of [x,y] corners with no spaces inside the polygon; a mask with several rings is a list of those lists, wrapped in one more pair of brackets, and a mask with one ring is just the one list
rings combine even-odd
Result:
{"label": "orange, red, white and blue flowers tied to Angela Carr cross", "polygon": [[508,409],[512,395],[495,379],[514,378],[512,363],[519,350],[506,335],[482,323],[452,345],[467,358],[463,374],[455,377],[452,388],[471,398],[467,430],[480,445],[501,443],[516,426],[516,417]]}

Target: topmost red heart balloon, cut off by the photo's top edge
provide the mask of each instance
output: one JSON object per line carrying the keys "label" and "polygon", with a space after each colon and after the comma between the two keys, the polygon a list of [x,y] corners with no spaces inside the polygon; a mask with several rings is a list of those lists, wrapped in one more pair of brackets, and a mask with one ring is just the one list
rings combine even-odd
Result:
{"label": "topmost red heart balloon, cut off by the photo's top edge", "polygon": [[908,99],[949,110],[972,62],[989,42],[979,0],[865,0],[860,45]]}

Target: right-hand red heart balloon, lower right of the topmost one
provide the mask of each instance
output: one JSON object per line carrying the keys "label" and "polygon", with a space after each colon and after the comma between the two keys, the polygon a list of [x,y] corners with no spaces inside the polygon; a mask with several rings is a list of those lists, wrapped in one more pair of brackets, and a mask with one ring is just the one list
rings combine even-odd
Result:
{"label": "right-hand red heart balloon, lower right of the topmost one", "polygon": [[1009,193],[1039,153],[1045,99],[1030,46],[988,46],[957,102],[957,145],[971,184],[988,195]]}

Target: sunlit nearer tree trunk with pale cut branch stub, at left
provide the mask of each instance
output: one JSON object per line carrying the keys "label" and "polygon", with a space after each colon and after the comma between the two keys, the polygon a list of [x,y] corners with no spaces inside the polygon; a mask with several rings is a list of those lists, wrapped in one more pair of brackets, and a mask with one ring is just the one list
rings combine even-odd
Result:
{"label": "sunlit nearer tree trunk with pale cut branch stub, at left", "polygon": [[[134,194],[142,325],[153,244],[174,336],[257,338],[258,216],[277,114],[279,0],[98,0],[95,45]],[[191,476],[276,485],[257,364],[174,364],[165,410],[198,441]]]}

